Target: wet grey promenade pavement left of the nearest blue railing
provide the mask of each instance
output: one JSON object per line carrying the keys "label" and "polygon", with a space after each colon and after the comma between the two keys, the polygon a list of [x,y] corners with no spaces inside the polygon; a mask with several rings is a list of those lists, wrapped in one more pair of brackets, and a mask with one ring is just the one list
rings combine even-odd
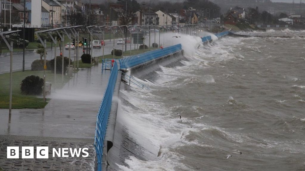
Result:
{"label": "wet grey promenade pavement left of the nearest blue railing", "polygon": [[[0,166],[5,170],[76,170],[78,166],[93,170],[96,115],[109,74],[101,72],[101,64],[81,68],[63,89],[51,91],[44,109],[13,109],[11,116],[8,109],[0,109]],[[89,157],[6,159],[7,146],[21,150],[25,145],[89,148]]]}

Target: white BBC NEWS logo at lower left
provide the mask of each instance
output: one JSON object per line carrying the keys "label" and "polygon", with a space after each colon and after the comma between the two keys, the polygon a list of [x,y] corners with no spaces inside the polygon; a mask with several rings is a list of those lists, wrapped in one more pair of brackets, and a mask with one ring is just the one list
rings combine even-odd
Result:
{"label": "white BBC NEWS logo at lower left", "polygon": [[[88,157],[88,148],[52,148],[52,157]],[[7,147],[7,159],[19,159],[19,147]],[[48,159],[49,147],[36,147],[36,159]],[[34,159],[34,147],[21,147],[21,159]]]}

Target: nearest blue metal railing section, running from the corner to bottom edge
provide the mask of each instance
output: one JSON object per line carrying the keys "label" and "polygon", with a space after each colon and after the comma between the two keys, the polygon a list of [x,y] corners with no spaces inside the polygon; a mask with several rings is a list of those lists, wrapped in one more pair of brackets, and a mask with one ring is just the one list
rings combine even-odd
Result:
{"label": "nearest blue metal railing section, running from the corner to bottom edge", "polygon": [[102,170],[104,138],[106,134],[106,127],[111,108],[113,90],[114,90],[115,82],[117,80],[117,74],[118,74],[118,66],[117,66],[117,62],[114,62],[106,86],[106,91],[104,93],[101,106],[99,107],[99,113],[97,114],[97,118],[96,118],[94,146],[97,155],[98,171]]}

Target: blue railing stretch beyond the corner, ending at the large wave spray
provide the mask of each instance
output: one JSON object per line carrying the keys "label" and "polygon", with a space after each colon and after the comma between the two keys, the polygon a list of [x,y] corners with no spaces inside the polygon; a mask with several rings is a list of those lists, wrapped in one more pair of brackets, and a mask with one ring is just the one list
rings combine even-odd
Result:
{"label": "blue railing stretch beyond the corner, ending at the large wave spray", "polygon": [[172,54],[177,51],[181,51],[181,44],[176,44],[174,46],[164,47],[163,49],[156,49],[153,51],[148,51],[142,54],[133,55],[127,58],[119,59],[120,69],[130,68],[135,65],[142,64],[144,62],[160,58],[162,56],[166,56]]}

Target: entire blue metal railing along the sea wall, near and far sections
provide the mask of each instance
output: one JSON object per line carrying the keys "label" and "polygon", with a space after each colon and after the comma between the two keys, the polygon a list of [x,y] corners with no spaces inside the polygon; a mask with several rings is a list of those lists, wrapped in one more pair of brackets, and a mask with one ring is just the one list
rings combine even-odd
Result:
{"label": "entire blue metal railing along the sea wall, near and far sections", "polygon": [[[217,34],[215,34],[215,36],[222,37],[222,36],[225,36],[228,34],[229,34],[229,32],[225,31],[222,33],[217,33]],[[206,43],[206,42],[212,40],[211,36],[202,37],[201,39],[202,39],[203,43]],[[105,149],[103,149],[103,147],[107,146],[105,144],[104,140],[105,140],[105,135],[106,135],[106,129],[108,128],[107,125],[108,125],[108,118],[109,118],[109,113],[111,110],[111,104],[112,104],[112,99],[113,99],[113,91],[116,86],[116,82],[118,80],[120,81],[120,79],[117,79],[119,69],[134,67],[134,66],[143,64],[145,62],[152,61],[157,58],[161,58],[163,56],[168,56],[168,55],[176,53],[178,51],[182,51],[181,44],[177,44],[174,46],[165,47],[163,49],[157,49],[154,51],[145,52],[143,54],[138,54],[138,55],[130,56],[127,58],[119,59],[119,60],[117,60],[119,62],[119,66],[117,64],[117,61],[114,62],[113,67],[111,68],[110,77],[108,80],[106,91],[102,98],[101,106],[99,108],[99,112],[97,115],[97,121],[96,121],[94,146],[95,146],[96,156],[97,156],[96,168],[98,171],[102,170],[102,160],[103,160],[103,163],[106,162],[106,161],[104,161],[104,160],[106,160],[106,157],[105,158],[103,157],[103,152],[105,152]],[[116,117],[114,117],[114,118],[116,118]],[[112,129],[113,129],[113,123],[110,125],[112,125]],[[110,141],[113,141],[113,136],[110,139],[111,139]],[[111,147],[107,147],[106,152],[110,148]]]}

